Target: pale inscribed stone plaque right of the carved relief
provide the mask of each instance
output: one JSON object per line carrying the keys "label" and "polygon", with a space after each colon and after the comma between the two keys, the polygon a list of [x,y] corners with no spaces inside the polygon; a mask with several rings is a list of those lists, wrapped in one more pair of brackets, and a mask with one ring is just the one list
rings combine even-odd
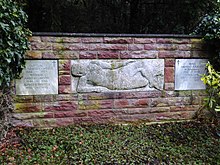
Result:
{"label": "pale inscribed stone plaque right of the carved relief", "polygon": [[201,75],[206,73],[207,59],[176,59],[175,90],[202,90]]}

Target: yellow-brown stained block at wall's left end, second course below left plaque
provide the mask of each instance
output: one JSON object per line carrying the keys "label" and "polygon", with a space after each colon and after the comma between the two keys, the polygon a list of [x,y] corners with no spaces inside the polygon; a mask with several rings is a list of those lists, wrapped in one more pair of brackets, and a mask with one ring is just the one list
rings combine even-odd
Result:
{"label": "yellow-brown stained block at wall's left end, second course below left plaque", "polygon": [[42,103],[15,103],[15,113],[41,112]]}

